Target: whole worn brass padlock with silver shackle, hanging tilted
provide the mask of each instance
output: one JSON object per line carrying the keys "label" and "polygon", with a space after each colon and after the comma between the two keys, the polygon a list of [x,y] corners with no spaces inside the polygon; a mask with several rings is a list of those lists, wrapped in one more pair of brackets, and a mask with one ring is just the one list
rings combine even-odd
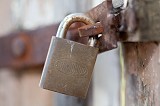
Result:
{"label": "whole worn brass padlock with silver shackle, hanging tilted", "polygon": [[88,45],[64,39],[74,22],[94,23],[82,13],[64,18],[56,37],[51,39],[39,85],[51,91],[85,98],[99,49],[94,47],[94,37],[89,38]]}

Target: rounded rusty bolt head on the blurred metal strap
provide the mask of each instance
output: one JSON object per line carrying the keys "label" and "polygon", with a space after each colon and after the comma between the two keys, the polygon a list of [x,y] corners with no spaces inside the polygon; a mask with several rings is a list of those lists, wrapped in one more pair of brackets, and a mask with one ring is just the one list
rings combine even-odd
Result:
{"label": "rounded rusty bolt head on the blurred metal strap", "polygon": [[24,55],[26,51],[26,45],[25,42],[22,40],[22,38],[14,39],[11,46],[12,46],[12,52],[16,57],[21,57]]}

